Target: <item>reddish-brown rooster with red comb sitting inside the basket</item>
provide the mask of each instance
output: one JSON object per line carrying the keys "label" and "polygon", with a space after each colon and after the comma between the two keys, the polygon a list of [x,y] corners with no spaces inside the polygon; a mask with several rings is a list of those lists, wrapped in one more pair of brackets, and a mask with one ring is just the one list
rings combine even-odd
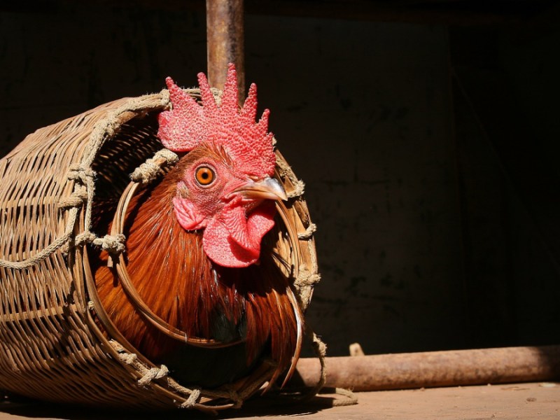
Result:
{"label": "reddish-brown rooster with red comb sitting inside the basket", "polygon": [[172,109],[160,113],[158,137],[181,159],[134,197],[125,255],[134,287],[155,314],[221,346],[186,344],[146,322],[104,264],[105,253],[95,268],[99,298],[123,336],[181,383],[228,384],[263,358],[276,364],[270,384],[289,367],[285,382],[300,354],[302,313],[267,235],[274,202],[286,200],[272,178],[269,111],[255,122],[254,84],[239,109],[232,64],[221,101],[203,73],[198,80],[202,105],[166,80]]}

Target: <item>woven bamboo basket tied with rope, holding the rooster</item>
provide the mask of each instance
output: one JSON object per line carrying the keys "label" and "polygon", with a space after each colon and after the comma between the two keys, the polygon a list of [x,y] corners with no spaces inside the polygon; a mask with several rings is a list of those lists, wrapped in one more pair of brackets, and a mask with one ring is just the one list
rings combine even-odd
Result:
{"label": "woven bamboo basket tied with rope, holding the rooster", "polygon": [[[262,362],[234,384],[185,388],[103,322],[87,248],[126,243],[95,237],[92,209],[121,197],[135,169],[165,171],[155,166],[167,163],[156,133],[168,107],[167,90],[119,99],[37,130],[0,160],[0,389],[52,402],[216,411],[239,407],[272,376]],[[305,309],[319,279],[315,225],[302,182],[276,158],[290,200],[278,204],[275,251]]]}

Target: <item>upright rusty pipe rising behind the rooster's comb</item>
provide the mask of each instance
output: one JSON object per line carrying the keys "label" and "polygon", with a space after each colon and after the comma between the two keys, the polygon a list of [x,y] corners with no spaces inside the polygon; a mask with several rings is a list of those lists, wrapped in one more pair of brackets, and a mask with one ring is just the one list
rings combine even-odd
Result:
{"label": "upright rusty pipe rising behind the rooster's comb", "polygon": [[209,83],[223,90],[228,64],[235,63],[241,103],[245,96],[243,0],[207,0],[206,13]]}

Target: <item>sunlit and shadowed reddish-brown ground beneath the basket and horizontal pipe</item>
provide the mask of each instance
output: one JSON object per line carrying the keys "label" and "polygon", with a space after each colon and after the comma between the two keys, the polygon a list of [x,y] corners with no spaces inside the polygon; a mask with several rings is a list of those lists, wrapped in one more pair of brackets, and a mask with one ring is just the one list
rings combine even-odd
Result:
{"label": "sunlit and shadowed reddish-brown ground beneath the basket and horizontal pipe", "polygon": [[[218,417],[195,415],[197,419],[302,419],[322,420],[418,420],[418,419],[560,419],[560,383],[458,386],[404,391],[356,393],[358,404],[333,407],[333,402],[349,402],[347,397],[322,394],[304,405],[274,405],[266,400],[248,402],[244,409]],[[0,405],[0,420],[23,419],[185,419],[177,412],[151,414],[110,414],[91,409],[69,409],[31,402],[6,401]],[[194,414],[194,413],[193,413]]]}

